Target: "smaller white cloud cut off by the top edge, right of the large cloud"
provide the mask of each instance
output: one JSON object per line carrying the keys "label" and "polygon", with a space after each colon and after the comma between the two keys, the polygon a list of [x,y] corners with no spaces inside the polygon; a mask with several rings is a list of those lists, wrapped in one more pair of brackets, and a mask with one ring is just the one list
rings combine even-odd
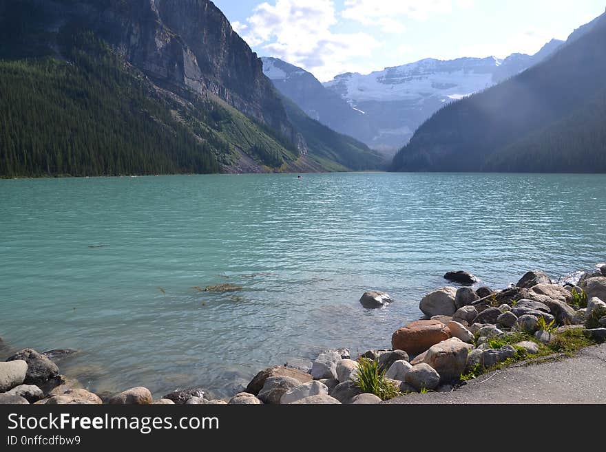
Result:
{"label": "smaller white cloud cut off by the top edge, right of the large cloud", "polygon": [[377,26],[386,33],[400,34],[406,31],[403,21],[423,21],[432,14],[446,14],[454,8],[470,8],[474,0],[345,0],[342,12],[350,19],[367,26]]}

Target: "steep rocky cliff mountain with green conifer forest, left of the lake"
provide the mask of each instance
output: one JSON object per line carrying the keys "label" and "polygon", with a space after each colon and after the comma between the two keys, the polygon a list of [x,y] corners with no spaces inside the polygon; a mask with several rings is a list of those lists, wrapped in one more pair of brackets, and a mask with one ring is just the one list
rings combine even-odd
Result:
{"label": "steep rocky cliff mountain with green conifer forest, left of the lake", "polygon": [[209,0],[0,0],[0,83],[0,176],[327,169]]}

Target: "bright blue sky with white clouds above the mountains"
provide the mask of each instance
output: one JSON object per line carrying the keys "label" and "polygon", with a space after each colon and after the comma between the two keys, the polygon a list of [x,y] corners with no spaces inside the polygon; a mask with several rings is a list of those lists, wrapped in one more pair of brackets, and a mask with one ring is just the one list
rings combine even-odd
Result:
{"label": "bright blue sky with white clouds above the mountains", "polygon": [[605,0],[213,0],[259,56],[321,81],[423,58],[534,54]]}

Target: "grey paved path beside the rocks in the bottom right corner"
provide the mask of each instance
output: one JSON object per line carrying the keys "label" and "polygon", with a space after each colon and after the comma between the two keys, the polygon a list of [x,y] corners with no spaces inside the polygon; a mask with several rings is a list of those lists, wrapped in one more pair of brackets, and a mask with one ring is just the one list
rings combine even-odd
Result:
{"label": "grey paved path beside the rocks in the bottom right corner", "polygon": [[471,380],[447,394],[409,394],[391,404],[606,403],[606,344],[574,358],[514,365]]}

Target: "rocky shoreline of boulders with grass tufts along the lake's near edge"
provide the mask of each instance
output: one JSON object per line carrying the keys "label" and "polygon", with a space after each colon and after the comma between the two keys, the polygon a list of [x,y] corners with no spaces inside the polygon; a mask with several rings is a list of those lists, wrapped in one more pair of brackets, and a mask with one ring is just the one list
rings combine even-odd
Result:
{"label": "rocky shoreline of boulders with grass tufts along the lake's near edge", "polygon": [[[474,290],[477,279],[468,272],[448,272],[445,279],[461,287],[427,294],[419,304],[425,320],[394,332],[391,349],[357,357],[347,349],[328,350],[313,363],[269,367],[231,398],[209,400],[204,389],[179,389],[154,400],[145,387],[102,398],[60,374],[53,360],[72,350],[23,349],[0,362],[0,404],[378,404],[411,393],[452,391],[499,366],[566,350],[566,341],[580,347],[606,340],[606,264],[557,282],[531,271],[495,291]],[[388,308],[393,299],[369,291],[360,303]]]}

